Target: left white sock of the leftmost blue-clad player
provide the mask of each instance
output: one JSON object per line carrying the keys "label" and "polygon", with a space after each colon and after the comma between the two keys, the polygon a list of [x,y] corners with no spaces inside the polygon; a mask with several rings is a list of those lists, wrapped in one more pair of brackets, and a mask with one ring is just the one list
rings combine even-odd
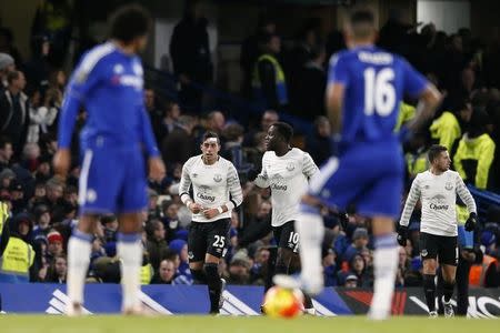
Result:
{"label": "left white sock of the leftmost blue-clad player", "polygon": [[76,230],[68,242],[68,281],[69,306],[83,304],[83,285],[90,262],[92,235]]}

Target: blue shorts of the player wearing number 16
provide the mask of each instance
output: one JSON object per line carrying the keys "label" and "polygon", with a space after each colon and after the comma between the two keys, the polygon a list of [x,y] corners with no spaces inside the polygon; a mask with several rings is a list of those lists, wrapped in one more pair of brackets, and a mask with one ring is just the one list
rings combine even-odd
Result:
{"label": "blue shorts of the player wearing number 16", "polygon": [[364,216],[398,218],[404,164],[398,142],[358,143],[330,160],[309,182],[309,194],[331,208],[353,204]]}

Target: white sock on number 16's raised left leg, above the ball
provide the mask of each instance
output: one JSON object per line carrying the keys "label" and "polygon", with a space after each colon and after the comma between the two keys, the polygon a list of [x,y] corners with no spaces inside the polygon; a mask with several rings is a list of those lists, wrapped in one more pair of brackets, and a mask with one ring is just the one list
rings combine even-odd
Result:
{"label": "white sock on number 16's raised left leg, above the ball", "polygon": [[301,282],[309,294],[319,294],[323,289],[323,268],[321,265],[321,245],[324,226],[321,215],[310,206],[301,206],[296,221],[296,231],[300,235]]}

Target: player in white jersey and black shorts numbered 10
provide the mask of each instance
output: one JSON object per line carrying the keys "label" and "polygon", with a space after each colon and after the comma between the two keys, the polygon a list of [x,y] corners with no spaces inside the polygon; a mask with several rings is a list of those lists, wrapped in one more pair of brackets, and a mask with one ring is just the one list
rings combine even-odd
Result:
{"label": "player in white jersey and black shorts numbered 10", "polygon": [[[318,171],[307,152],[290,145],[292,137],[293,129],[288,123],[277,122],[269,128],[262,171],[254,180],[257,186],[271,189],[271,225],[278,246],[276,274],[293,274],[300,269],[300,235],[294,222],[308,181]],[[308,313],[314,312],[310,297],[306,297],[304,307]]]}

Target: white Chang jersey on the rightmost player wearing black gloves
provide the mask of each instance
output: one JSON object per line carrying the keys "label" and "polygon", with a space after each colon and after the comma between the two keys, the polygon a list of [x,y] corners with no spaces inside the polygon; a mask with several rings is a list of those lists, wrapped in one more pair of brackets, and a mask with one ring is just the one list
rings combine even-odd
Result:
{"label": "white Chang jersey on the rightmost player wearing black gloves", "polygon": [[457,194],[467,204],[469,212],[476,213],[476,202],[458,172],[448,170],[439,175],[430,171],[419,173],[411,184],[400,224],[408,225],[414,204],[420,199],[422,203],[420,231],[456,236]]}

